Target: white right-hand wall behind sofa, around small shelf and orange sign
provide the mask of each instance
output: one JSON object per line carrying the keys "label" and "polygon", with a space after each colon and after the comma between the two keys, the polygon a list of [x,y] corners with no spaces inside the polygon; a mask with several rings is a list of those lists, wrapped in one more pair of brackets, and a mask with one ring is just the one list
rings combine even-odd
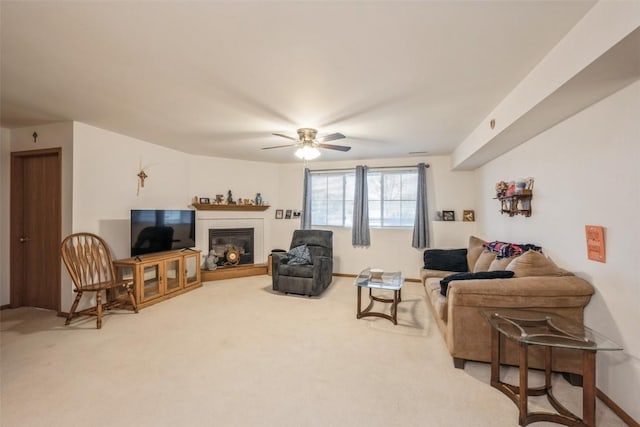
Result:
{"label": "white right-hand wall behind sofa, around small shelf and orange sign", "polygon": [[[478,226],[490,240],[542,245],[596,288],[585,323],[624,347],[598,353],[597,385],[640,419],[640,82],[476,171]],[[500,215],[499,180],[535,178],[532,216]],[[607,262],[589,261],[585,225],[605,228]]]}

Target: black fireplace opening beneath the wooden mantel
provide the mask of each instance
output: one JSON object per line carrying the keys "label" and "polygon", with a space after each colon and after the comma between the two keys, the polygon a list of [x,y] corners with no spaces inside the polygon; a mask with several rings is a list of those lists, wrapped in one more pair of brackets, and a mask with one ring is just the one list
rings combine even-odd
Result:
{"label": "black fireplace opening beneath the wooden mantel", "polygon": [[[253,228],[210,228],[209,250],[218,256],[218,266],[253,264]],[[227,259],[229,251],[240,255],[239,262]]]}

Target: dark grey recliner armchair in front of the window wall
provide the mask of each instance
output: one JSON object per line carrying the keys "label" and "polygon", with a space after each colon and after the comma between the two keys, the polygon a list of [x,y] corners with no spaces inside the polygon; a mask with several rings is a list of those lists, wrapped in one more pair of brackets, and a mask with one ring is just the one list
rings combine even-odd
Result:
{"label": "dark grey recliner armchair in front of the window wall", "polygon": [[320,295],[333,278],[333,231],[295,230],[290,248],[307,245],[310,264],[290,265],[286,252],[272,253],[273,290],[308,296]]}

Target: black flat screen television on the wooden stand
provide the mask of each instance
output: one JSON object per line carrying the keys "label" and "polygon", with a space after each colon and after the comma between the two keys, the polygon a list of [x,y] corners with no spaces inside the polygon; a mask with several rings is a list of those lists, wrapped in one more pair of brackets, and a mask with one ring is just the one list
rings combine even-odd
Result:
{"label": "black flat screen television on the wooden stand", "polygon": [[196,212],[190,210],[131,210],[131,256],[193,248]]}

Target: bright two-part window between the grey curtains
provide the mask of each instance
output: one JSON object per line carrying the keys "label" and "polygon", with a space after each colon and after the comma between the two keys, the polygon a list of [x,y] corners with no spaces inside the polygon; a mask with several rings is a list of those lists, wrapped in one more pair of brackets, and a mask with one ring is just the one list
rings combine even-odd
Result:
{"label": "bright two-part window between the grey curtains", "polygon": [[[369,170],[369,225],[413,227],[416,213],[418,172]],[[311,174],[311,224],[351,227],[355,174],[331,172]]]}

